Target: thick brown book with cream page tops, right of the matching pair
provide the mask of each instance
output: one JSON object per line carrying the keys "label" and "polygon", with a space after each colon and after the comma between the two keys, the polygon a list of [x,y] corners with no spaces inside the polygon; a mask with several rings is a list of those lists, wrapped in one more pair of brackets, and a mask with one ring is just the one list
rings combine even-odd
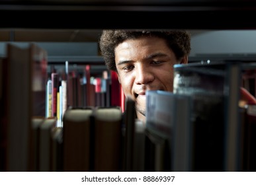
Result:
{"label": "thick brown book with cream page tops, right of the matching pair", "polygon": [[95,107],[94,169],[96,172],[122,170],[122,110],[120,106]]}

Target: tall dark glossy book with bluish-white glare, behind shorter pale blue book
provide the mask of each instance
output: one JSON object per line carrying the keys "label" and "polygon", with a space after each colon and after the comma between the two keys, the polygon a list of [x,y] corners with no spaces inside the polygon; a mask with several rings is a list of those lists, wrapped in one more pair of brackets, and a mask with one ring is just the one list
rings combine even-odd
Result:
{"label": "tall dark glossy book with bluish-white glare, behind shorter pale blue book", "polygon": [[173,92],[191,96],[193,104],[191,171],[224,171],[226,65],[174,67]]}

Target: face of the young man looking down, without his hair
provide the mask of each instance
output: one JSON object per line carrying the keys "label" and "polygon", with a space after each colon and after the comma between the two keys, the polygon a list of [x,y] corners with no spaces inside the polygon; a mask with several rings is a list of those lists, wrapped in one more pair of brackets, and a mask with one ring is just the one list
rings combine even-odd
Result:
{"label": "face of the young man looking down, without his hair", "polygon": [[115,49],[119,82],[135,100],[139,119],[146,121],[146,91],[173,91],[175,54],[162,38],[126,40]]}

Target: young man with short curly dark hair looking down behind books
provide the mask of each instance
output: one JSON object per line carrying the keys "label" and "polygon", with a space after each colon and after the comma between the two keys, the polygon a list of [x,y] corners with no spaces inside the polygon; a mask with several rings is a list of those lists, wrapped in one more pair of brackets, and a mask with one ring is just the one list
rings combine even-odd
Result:
{"label": "young man with short curly dark hair looking down behind books", "polygon": [[191,34],[184,30],[103,30],[99,40],[108,69],[116,71],[126,97],[146,122],[146,91],[173,91],[173,65],[187,63]]}

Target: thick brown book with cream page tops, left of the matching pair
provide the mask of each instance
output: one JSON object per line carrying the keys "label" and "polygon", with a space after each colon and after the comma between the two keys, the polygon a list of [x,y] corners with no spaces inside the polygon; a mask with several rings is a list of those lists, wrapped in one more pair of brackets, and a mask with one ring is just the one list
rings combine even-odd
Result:
{"label": "thick brown book with cream page tops, left of the matching pair", "polygon": [[91,171],[94,132],[91,129],[93,107],[69,107],[63,117],[64,171]]}

